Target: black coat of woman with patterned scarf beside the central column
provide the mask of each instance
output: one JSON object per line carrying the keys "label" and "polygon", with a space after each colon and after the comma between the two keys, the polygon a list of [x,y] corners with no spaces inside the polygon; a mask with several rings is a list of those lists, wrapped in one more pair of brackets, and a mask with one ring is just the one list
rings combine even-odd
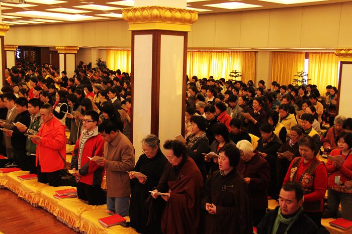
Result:
{"label": "black coat of woman with patterned scarf beside the central column", "polygon": [[[188,143],[188,138],[187,138]],[[199,139],[191,148],[187,148],[187,155],[190,156],[197,164],[199,170],[202,173],[203,180],[207,177],[207,171],[205,169],[205,161],[203,153],[208,153],[209,140],[207,137]],[[195,151],[197,150],[197,151]]]}

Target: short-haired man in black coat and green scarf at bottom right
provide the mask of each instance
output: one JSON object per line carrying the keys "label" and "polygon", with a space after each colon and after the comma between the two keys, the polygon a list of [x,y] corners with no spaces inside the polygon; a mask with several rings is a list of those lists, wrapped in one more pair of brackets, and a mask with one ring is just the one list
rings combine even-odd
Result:
{"label": "short-haired man in black coat and green scarf at bottom right", "polygon": [[318,234],[319,228],[303,211],[303,188],[288,182],[281,188],[279,206],[263,217],[257,226],[258,234]]}

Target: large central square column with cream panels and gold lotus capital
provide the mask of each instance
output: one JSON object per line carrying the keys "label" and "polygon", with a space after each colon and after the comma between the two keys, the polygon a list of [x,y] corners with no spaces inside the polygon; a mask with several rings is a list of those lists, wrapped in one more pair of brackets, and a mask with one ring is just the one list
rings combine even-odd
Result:
{"label": "large central square column with cream panels and gold lotus capital", "polygon": [[131,139],[136,160],[148,134],[185,132],[187,36],[197,12],[168,7],[122,9],[132,31]]}

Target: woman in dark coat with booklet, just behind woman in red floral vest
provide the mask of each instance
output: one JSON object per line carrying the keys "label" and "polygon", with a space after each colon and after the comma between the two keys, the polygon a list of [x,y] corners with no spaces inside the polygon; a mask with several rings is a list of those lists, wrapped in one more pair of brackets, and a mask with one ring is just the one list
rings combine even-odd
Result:
{"label": "woman in dark coat with booklet, just behind woman in red floral vest", "polygon": [[[284,182],[286,172],[296,157],[300,157],[298,142],[304,136],[304,129],[300,125],[294,125],[291,127],[290,135],[288,139],[278,150],[278,157],[276,159],[276,174],[277,174],[277,189],[280,190],[282,183]],[[282,153],[289,151],[293,156],[283,156]]]}

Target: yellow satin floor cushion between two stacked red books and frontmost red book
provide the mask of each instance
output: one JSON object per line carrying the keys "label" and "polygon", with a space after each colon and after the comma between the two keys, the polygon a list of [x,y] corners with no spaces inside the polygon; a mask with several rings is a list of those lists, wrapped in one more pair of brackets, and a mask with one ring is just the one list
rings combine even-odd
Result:
{"label": "yellow satin floor cushion between two stacked red books and frontmost red book", "polygon": [[79,230],[80,215],[87,210],[104,208],[104,206],[88,205],[78,198],[61,199],[57,202],[57,219],[71,227]]}

